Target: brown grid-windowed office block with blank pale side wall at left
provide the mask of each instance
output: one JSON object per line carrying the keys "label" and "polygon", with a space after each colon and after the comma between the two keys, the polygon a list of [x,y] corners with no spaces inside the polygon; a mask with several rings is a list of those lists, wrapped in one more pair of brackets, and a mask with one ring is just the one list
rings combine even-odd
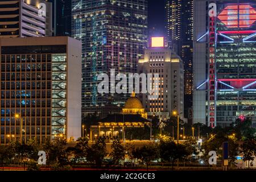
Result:
{"label": "brown grid-windowed office block with blank pale side wall at left", "polygon": [[0,39],[0,144],[81,136],[81,42]]}

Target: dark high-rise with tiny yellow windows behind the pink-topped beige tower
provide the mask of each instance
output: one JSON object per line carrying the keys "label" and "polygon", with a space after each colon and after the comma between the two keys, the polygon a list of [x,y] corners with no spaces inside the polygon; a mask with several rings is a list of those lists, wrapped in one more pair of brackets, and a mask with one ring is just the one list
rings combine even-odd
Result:
{"label": "dark high-rise with tiny yellow windows behind the pink-topped beige tower", "polygon": [[193,90],[193,0],[167,0],[166,21],[168,44],[184,63],[184,114],[187,118]]}

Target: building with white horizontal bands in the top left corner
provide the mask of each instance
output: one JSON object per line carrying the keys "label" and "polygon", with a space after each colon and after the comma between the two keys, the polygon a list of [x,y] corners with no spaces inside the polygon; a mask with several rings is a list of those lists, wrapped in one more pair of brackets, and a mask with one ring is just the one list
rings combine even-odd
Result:
{"label": "building with white horizontal bands in the top left corner", "polygon": [[52,35],[52,3],[44,0],[0,1],[0,38]]}

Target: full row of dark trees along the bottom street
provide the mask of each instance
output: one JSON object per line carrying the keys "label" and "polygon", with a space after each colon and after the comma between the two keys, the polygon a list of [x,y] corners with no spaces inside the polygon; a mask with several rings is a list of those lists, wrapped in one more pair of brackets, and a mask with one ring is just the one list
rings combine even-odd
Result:
{"label": "full row of dark trees along the bottom street", "polygon": [[[0,146],[0,162],[2,167],[8,165],[28,167],[38,170],[38,151],[46,151],[47,168],[71,169],[72,166],[90,164],[94,167],[120,167],[125,156],[130,161],[141,161],[147,168],[152,162],[158,164],[170,164],[174,168],[179,162],[198,162],[198,159],[208,161],[209,151],[216,151],[221,158],[220,147],[222,142],[229,142],[229,162],[234,164],[236,157],[243,152],[243,160],[254,160],[256,155],[255,138],[247,138],[240,145],[234,135],[218,133],[210,137],[198,147],[196,140],[189,138],[182,144],[176,144],[171,137],[162,137],[158,143],[144,144],[142,147],[124,146],[118,139],[112,143],[112,150],[108,153],[104,138],[98,138],[95,143],[89,144],[88,138],[79,138],[76,146],[68,147],[65,140],[59,138],[53,142],[47,141],[43,145],[36,140],[30,140],[26,144],[12,142],[7,146]],[[250,166],[249,166],[250,167]]]}

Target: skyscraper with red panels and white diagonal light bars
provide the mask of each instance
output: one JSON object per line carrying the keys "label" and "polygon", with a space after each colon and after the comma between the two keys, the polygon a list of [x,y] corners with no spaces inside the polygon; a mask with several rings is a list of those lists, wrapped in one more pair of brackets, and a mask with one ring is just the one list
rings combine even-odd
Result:
{"label": "skyscraper with red panels and white diagonal light bars", "polygon": [[193,122],[256,127],[256,3],[195,1]]}

